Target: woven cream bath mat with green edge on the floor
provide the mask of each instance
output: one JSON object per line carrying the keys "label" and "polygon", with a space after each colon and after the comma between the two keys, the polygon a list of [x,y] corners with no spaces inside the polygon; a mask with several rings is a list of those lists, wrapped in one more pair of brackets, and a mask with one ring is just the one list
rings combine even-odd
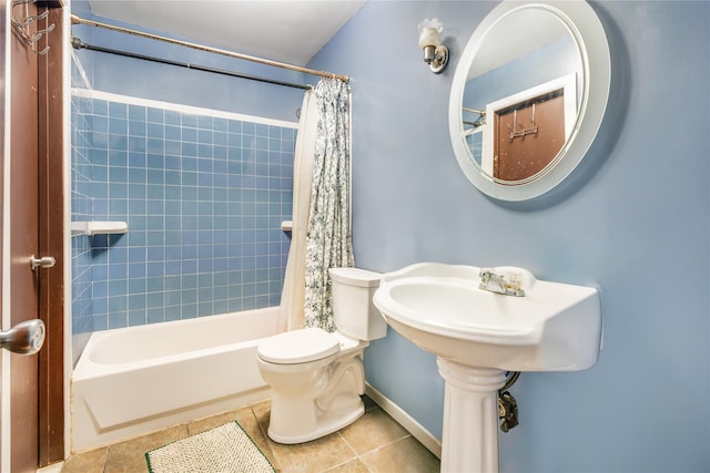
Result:
{"label": "woven cream bath mat with green edge on the floor", "polygon": [[236,422],[145,453],[151,473],[274,473],[271,462]]}

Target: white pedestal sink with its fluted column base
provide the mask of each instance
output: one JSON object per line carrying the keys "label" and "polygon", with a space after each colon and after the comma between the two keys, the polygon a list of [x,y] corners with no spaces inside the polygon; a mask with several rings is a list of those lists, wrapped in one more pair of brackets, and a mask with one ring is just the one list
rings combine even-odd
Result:
{"label": "white pedestal sink with its fluted column base", "polygon": [[445,380],[443,472],[498,471],[498,390],[507,371],[578,371],[597,362],[594,288],[537,280],[524,297],[478,288],[480,268],[420,263],[385,274],[374,302],[389,326],[437,356]]}

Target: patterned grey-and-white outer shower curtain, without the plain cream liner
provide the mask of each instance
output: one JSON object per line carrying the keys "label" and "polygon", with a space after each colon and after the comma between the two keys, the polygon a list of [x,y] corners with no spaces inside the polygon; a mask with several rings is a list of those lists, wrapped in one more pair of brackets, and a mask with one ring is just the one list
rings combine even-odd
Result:
{"label": "patterned grey-and-white outer shower curtain, without the plain cream liner", "polygon": [[328,268],[354,266],[351,239],[351,104],[347,84],[323,79],[306,232],[305,325],[335,331]]}

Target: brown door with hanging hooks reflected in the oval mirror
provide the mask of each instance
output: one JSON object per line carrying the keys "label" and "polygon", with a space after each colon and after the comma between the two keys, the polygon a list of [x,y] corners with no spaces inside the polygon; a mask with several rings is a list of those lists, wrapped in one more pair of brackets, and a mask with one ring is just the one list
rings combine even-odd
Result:
{"label": "brown door with hanging hooks reflected in the oval mirror", "polygon": [[494,177],[521,181],[542,171],[565,145],[562,90],[495,114]]}

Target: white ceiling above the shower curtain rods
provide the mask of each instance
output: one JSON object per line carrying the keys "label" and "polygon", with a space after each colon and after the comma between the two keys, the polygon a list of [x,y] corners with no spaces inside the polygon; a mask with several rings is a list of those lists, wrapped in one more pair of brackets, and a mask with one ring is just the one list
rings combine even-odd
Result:
{"label": "white ceiling above the shower curtain rods", "polygon": [[90,0],[106,19],[305,65],[367,0]]}

